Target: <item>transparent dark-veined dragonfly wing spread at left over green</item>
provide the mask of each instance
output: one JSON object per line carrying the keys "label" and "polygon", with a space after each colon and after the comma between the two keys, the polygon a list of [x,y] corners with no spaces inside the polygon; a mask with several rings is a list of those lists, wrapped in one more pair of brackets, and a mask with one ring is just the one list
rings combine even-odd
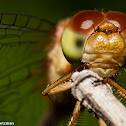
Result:
{"label": "transparent dark-veined dragonfly wing spread at left over green", "polygon": [[0,13],[0,122],[35,126],[45,102],[45,46],[53,24],[37,17]]}

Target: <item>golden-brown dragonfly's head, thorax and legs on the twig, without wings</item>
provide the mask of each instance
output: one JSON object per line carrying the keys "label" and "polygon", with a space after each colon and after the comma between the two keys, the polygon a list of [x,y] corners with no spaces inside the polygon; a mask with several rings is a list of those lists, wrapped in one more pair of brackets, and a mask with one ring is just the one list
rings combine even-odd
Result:
{"label": "golden-brown dragonfly's head, thorax and legs on the twig, without wings", "polygon": [[[124,13],[96,10],[81,11],[64,20],[59,28],[61,36],[48,58],[52,81],[62,73],[66,75],[49,84],[42,94],[53,95],[71,89],[72,74],[89,69],[125,98],[126,90],[115,81],[120,76],[119,71],[125,69],[125,21]],[[75,125],[81,112],[81,102],[77,101],[68,126]]]}

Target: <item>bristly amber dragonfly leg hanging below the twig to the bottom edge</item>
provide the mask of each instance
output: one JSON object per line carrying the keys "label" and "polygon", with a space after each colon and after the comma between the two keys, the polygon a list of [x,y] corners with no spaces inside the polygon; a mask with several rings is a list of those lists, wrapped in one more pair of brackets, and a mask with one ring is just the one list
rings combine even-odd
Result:
{"label": "bristly amber dragonfly leg hanging below the twig to the bottom edge", "polygon": [[80,101],[77,101],[73,110],[73,115],[71,116],[67,126],[75,126],[82,111],[83,111],[83,106],[81,105]]}

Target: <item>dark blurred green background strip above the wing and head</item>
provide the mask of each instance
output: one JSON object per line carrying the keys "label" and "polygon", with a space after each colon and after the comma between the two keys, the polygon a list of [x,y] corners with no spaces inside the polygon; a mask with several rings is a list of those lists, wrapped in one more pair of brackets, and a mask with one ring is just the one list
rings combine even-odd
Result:
{"label": "dark blurred green background strip above the wing and head", "polygon": [[101,8],[126,12],[125,0],[0,0],[0,12],[25,13],[55,22],[81,10]]}

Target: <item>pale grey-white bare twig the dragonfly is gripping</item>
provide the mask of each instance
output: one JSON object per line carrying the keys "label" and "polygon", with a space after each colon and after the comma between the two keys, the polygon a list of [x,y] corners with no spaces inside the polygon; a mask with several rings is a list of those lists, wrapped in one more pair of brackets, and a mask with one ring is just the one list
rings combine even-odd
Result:
{"label": "pale grey-white bare twig the dragonfly is gripping", "polygon": [[72,94],[88,109],[102,118],[108,126],[126,126],[126,108],[113,95],[109,84],[103,84],[90,70],[75,72],[72,77]]}

